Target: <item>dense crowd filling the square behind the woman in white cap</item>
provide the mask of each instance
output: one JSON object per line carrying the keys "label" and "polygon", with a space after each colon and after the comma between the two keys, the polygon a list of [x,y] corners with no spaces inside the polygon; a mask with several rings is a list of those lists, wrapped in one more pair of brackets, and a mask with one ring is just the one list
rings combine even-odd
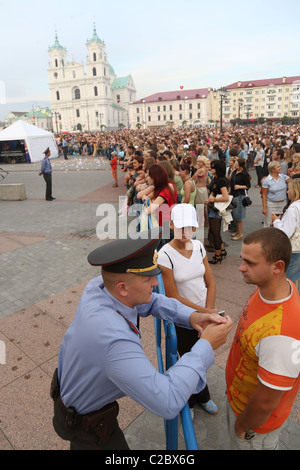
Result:
{"label": "dense crowd filling the square behind the woman in white cap", "polygon": [[66,134],[57,136],[57,141],[65,158],[72,154],[107,158],[114,187],[119,186],[119,166],[127,195],[122,212],[149,201],[146,213],[159,218],[163,243],[173,237],[169,221],[174,204],[204,204],[207,248],[214,252],[211,264],[226,258],[221,225],[228,213],[233,219],[228,226],[231,240],[243,240],[251,185],[260,189],[264,226],[270,227],[272,214],[281,217],[286,210],[288,183],[300,174],[300,126],[296,125],[225,127],[222,132],[214,127],[123,129]]}

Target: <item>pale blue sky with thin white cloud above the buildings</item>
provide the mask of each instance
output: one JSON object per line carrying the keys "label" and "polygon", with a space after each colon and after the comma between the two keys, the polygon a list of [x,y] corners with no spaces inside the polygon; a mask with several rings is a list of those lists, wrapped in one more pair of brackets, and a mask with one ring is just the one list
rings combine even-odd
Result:
{"label": "pale blue sky with thin white cloud above the buildings", "polygon": [[94,23],[137,99],[300,75],[300,0],[0,0],[0,12],[0,120],[49,104],[55,32],[85,63]]}

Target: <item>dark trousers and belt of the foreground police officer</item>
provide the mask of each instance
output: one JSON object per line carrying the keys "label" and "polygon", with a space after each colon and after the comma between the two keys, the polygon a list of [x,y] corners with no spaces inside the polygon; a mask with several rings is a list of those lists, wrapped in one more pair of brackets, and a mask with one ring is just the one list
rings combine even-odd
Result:
{"label": "dark trousers and belt of the foreground police officer", "polygon": [[[57,382],[57,371],[53,381]],[[99,411],[80,415],[74,408],[66,408],[59,396],[59,386],[51,385],[54,401],[53,426],[61,439],[70,441],[70,450],[129,450],[117,416],[117,402]]]}

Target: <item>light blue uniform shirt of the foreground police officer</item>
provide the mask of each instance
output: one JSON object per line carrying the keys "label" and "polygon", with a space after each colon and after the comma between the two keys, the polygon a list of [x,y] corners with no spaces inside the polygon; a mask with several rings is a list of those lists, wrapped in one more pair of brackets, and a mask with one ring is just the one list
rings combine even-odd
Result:
{"label": "light blue uniform shirt of the foreground police officer", "polygon": [[65,406],[86,414],[129,396],[151,412],[173,419],[190,396],[205,387],[206,371],[214,362],[211,344],[198,340],[161,374],[144,353],[139,335],[119,313],[134,325],[138,315],[153,315],[191,328],[193,311],[156,293],[149,304],[130,308],[108,292],[101,276],[90,281],[60,347],[58,377]]}

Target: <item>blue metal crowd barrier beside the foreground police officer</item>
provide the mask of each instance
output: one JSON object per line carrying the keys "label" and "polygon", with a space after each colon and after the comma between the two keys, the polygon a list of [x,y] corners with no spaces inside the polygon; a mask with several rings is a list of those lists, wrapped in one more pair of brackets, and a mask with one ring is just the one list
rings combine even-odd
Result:
{"label": "blue metal crowd barrier beside the foreground police officer", "polygon": [[[143,208],[140,208],[140,214],[142,214]],[[152,228],[151,217],[148,217],[148,227]],[[165,295],[165,288],[163,284],[162,275],[157,276],[158,286],[155,291],[158,294]],[[177,353],[177,335],[175,325],[171,321],[163,321],[165,331],[165,366],[166,370],[172,367],[178,361]],[[155,327],[155,340],[156,340],[156,353],[158,361],[158,370],[161,374],[164,373],[162,347],[161,347],[161,331],[162,321],[158,318],[154,318]],[[198,443],[195,435],[194,425],[191,418],[191,413],[188,403],[180,412],[182,430],[187,450],[198,450]],[[177,450],[178,449],[178,417],[173,420],[165,420],[165,433],[166,433],[166,449]]]}

